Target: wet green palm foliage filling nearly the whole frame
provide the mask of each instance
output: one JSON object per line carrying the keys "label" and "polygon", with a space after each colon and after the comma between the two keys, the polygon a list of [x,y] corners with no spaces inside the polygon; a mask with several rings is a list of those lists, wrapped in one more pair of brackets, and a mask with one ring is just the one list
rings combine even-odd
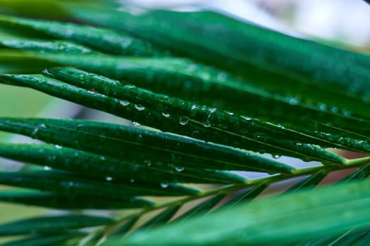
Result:
{"label": "wet green palm foliage filling nearly the whole frame", "polygon": [[[0,131],[41,141],[0,142],[0,157],[24,163],[0,171],[0,201],[66,212],[0,224],[21,236],[4,245],[369,242],[368,54],[210,11],[0,6],[0,83],[134,125],[0,115]],[[295,183],[254,200],[279,181]]]}

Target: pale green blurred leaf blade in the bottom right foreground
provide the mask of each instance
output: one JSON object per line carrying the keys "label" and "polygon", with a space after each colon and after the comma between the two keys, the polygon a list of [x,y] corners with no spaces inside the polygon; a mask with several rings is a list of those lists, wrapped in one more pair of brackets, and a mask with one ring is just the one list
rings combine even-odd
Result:
{"label": "pale green blurred leaf blade in the bottom right foreground", "polygon": [[[275,209],[271,209],[271,204]],[[368,206],[369,181],[360,181],[259,200],[145,233],[137,231],[126,238],[112,238],[103,245],[268,245],[276,242],[286,245],[305,238],[344,233],[353,226],[366,228],[369,226]],[[261,223],[264,226],[259,226]],[[207,233],[195,228],[207,228]],[[187,237],[182,237],[183,233]]]}

